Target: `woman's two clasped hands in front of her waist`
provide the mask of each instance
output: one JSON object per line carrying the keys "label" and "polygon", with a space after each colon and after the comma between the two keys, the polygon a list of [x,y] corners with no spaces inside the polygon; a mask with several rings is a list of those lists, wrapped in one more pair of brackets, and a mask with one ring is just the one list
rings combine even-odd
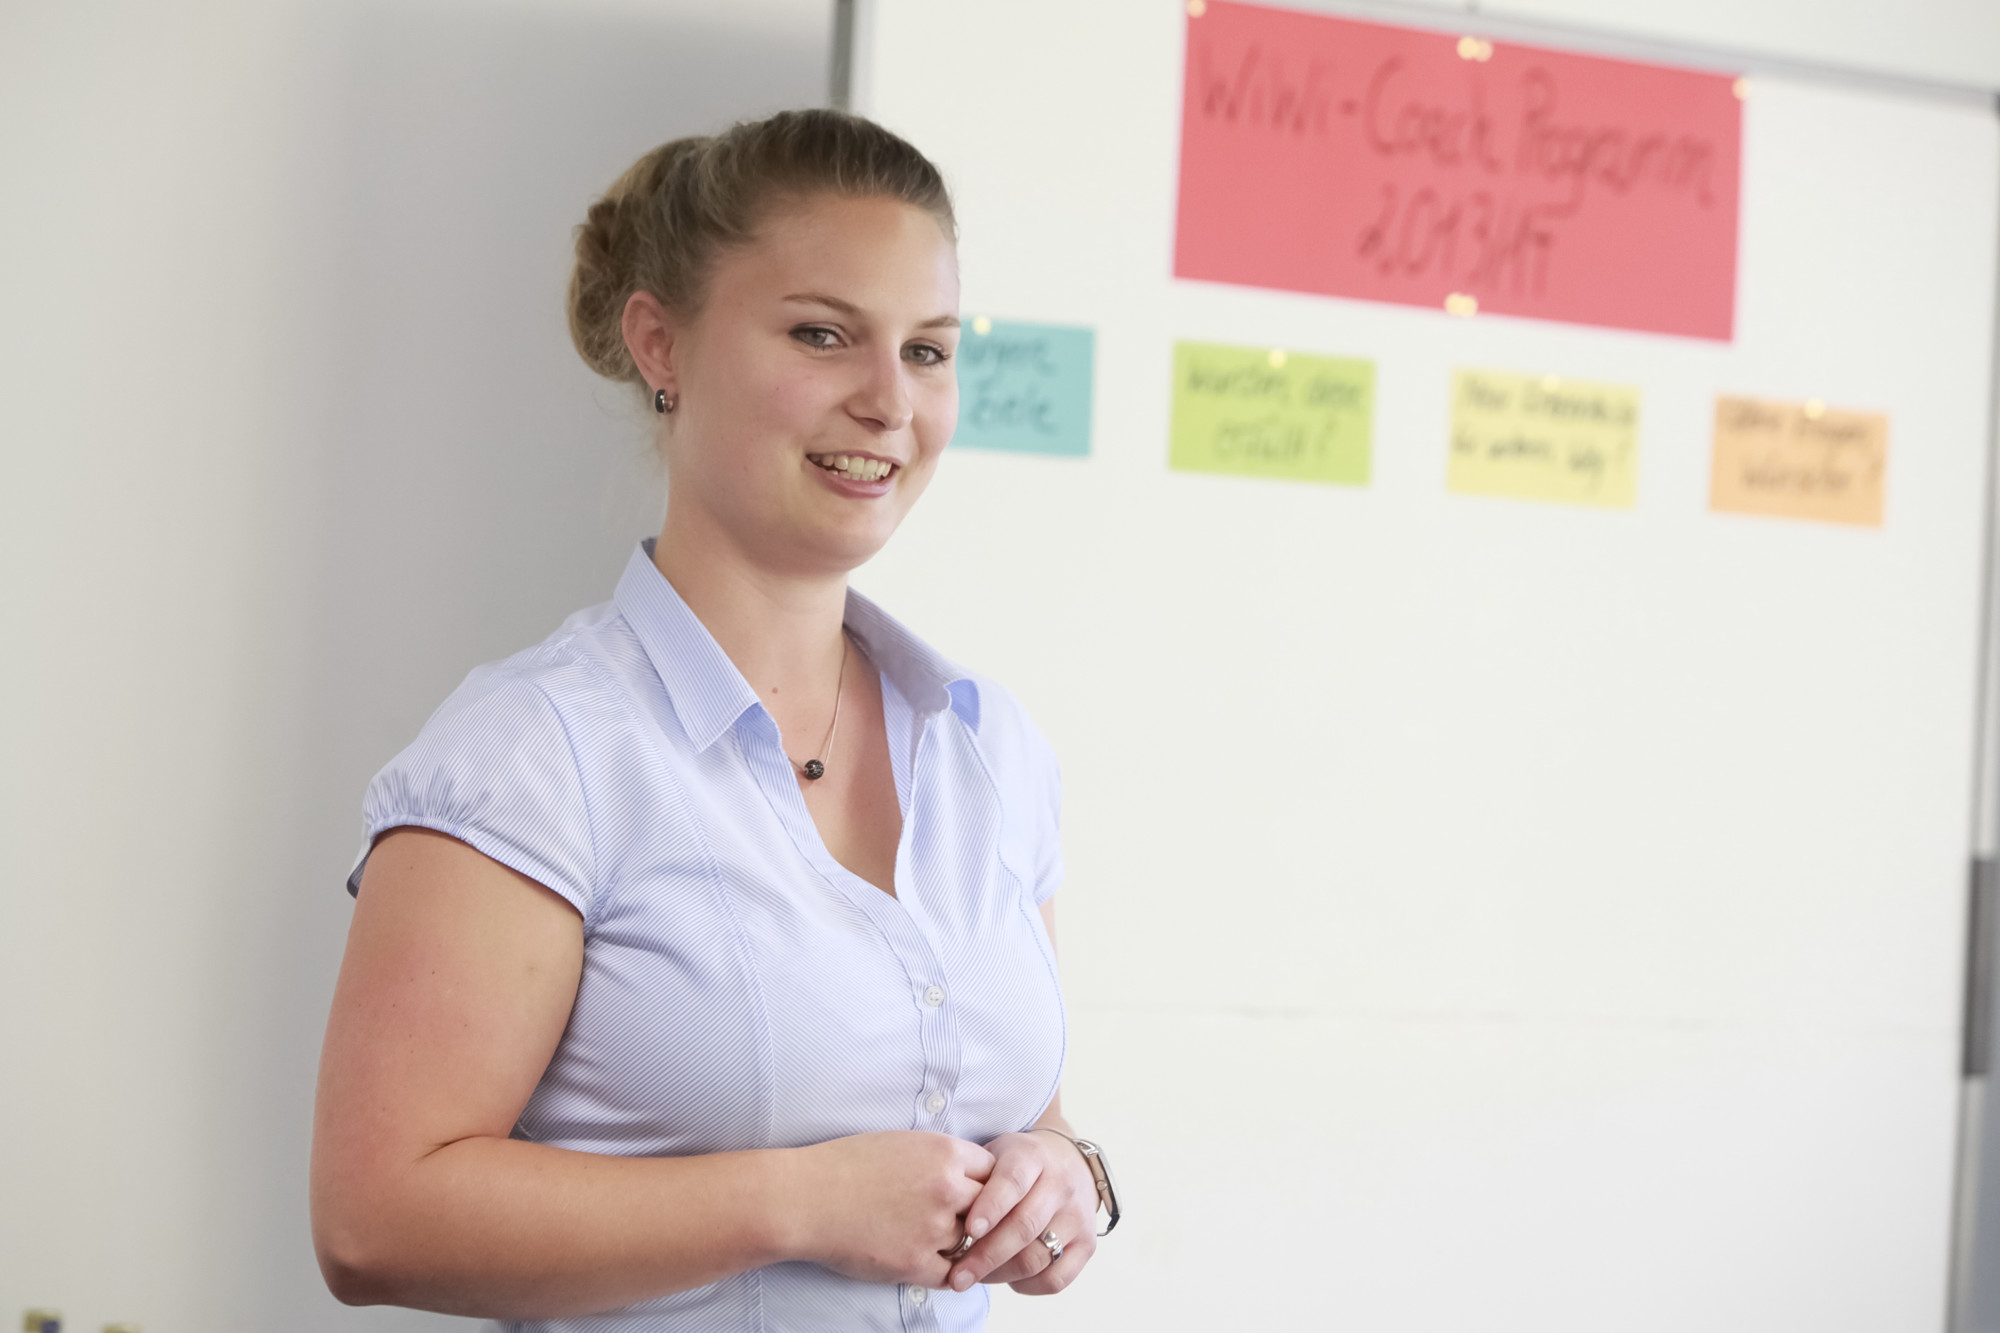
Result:
{"label": "woman's two clasped hands in front of her waist", "polygon": [[[1008,1283],[1054,1295],[1096,1251],[1096,1181],[1066,1139],[1008,1133],[984,1147],[922,1131],[832,1139],[818,1155],[824,1199],[840,1201],[812,1257],[878,1283],[968,1291]],[[1052,1235],[1062,1257],[1040,1237]],[[970,1237],[972,1249],[956,1253]]]}

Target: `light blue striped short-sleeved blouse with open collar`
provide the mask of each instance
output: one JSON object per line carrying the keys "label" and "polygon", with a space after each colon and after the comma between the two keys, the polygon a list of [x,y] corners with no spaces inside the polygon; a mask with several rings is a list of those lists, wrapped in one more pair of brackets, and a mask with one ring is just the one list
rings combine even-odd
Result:
{"label": "light blue striped short-sleeved blouse with open collar", "polygon": [[[778,727],[654,568],[474,671],[366,797],[368,843],[470,843],[584,917],[568,1031],[514,1137],[586,1153],[798,1147],[876,1129],[984,1143],[1062,1075],[1036,905],[1062,881],[1056,761],[1020,705],[848,592],[882,675],[896,897],[820,843]],[[360,867],[350,889],[360,881]],[[962,1331],[970,1293],[782,1263],[576,1331]]]}

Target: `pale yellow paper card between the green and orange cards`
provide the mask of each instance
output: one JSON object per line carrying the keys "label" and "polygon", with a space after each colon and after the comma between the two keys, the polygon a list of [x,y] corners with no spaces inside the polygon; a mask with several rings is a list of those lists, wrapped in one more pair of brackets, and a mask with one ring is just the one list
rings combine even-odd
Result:
{"label": "pale yellow paper card between the green and orange cards", "polygon": [[1630,508],[1638,496],[1638,388],[1454,370],[1446,484],[1464,494]]}

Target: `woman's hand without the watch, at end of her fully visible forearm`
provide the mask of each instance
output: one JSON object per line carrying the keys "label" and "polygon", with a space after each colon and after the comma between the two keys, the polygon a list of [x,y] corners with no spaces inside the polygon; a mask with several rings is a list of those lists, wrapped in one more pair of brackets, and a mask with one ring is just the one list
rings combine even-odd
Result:
{"label": "woman's hand without the watch, at end of her fully visible forearm", "polygon": [[[1040,1135],[1046,1139],[1048,1135]],[[868,1283],[942,1287],[960,1217],[994,1155],[976,1143],[896,1129],[800,1149],[804,1235],[794,1247]]]}

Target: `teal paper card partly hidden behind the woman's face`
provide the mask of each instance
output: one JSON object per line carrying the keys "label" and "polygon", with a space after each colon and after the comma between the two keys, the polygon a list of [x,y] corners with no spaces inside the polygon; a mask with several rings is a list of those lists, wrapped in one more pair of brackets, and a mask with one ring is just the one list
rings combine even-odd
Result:
{"label": "teal paper card partly hidden behind the woman's face", "polygon": [[1096,334],[1066,324],[1016,324],[984,314],[958,338],[954,446],[1016,454],[1090,452]]}

